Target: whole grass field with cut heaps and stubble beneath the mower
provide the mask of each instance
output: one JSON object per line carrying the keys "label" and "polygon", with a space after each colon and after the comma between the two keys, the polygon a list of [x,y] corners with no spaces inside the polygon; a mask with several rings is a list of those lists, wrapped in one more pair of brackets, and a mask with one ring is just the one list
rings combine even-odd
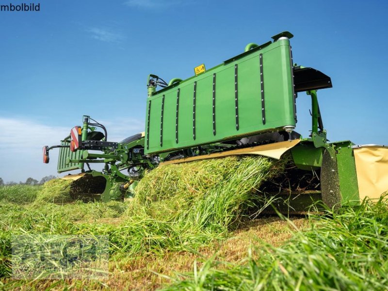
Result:
{"label": "whole grass field with cut heaps and stubble beneath the mower", "polygon": [[[1,289],[387,290],[388,205],[250,219],[283,164],[226,158],[160,167],[126,202],[69,199],[69,181],[0,187]],[[247,211],[249,210],[249,211]],[[14,234],[109,236],[109,277],[13,280]]]}

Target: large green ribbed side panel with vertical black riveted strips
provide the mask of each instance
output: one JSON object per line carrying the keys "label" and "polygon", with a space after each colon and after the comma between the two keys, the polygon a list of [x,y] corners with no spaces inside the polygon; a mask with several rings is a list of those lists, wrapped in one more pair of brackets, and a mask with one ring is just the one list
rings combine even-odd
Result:
{"label": "large green ribbed side panel with vertical black riveted strips", "polygon": [[[263,123],[261,103],[260,54],[263,65],[265,123]],[[238,79],[238,129],[236,128],[235,65],[237,65]],[[213,132],[213,74],[216,76],[215,134]],[[194,82],[196,82],[195,138],[193,135]],[[146,141],[148,140],[146,154],[221,142],[282,129],[284,126],[295,126],[290,42],[288,39],[281,39],[265,48],[253,49],[205,73],[159,90],[147,100],[151,101],[151,110],[149,130],[146,126]],[[148,104],[146,108],[148,114]],[[147,121],[146,119],[146,125]]]}

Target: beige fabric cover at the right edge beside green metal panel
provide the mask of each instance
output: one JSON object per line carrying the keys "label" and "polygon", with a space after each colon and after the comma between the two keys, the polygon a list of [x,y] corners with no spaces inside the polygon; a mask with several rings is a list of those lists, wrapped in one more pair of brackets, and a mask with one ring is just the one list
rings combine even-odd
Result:
{"label": "beige fabric cover at the right edge beside green metal panel", "polygon": [[388,147],[358,147],[354,154],[360,200],[380,198],[388,191]]}

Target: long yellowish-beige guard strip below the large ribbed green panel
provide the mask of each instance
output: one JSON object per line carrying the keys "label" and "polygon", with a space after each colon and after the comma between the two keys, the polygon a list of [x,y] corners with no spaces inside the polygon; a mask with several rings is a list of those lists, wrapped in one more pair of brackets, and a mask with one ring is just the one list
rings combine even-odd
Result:
{"label": "long yellowish-beige guard strip below the large ribbed green panel", "polygon": [[162,166],[162,165],[168,165],[173,163],[192,162],[197,160],[221,158],[221,157],[235,156],[235,155],[260,155],[260,156],[270,157],[270,158],[279,160],[282,154],[288,151],[291,147],[294,147],[297,144],[299,144],[299,142],[300,140],[296,139],[292,141],[278,142],[278,143],[273,143],[273,144],[263,145],[263,146],[246,147],[246,148],[240,148],[235,150],[229,150],[221,153],[214,153],[209,155],[202,155],[202,156],[190,157],[185,159],[161,162],[160,165]]}

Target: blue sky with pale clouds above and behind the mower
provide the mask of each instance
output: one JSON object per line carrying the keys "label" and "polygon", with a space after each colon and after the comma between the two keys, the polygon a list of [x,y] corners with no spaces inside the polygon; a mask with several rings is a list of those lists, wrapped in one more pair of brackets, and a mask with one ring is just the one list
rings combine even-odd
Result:
{"label": "blue sky with pale clouds above and behind the mower", "polygon": [[[0,12],[0,177],[56,175],[41,147],[83,114],[115,141],[143,131],[148,74],[185,79],[281,31],[295,35],[294,62],[332,78],[318,93],[329,139],[388,144],[387,13],[386,1],[330,0],[41,0],[39,12]],[[308,97],[297,106],[307,136]]]}

